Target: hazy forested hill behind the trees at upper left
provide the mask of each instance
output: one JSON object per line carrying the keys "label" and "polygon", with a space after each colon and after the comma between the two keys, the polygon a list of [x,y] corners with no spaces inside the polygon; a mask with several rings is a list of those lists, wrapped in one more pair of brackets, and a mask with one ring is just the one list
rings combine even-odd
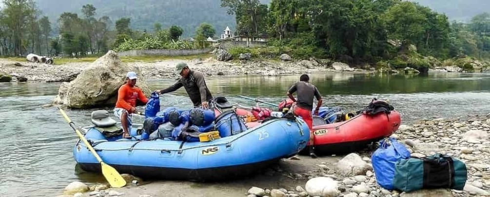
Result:
{"label": "hazy forested hill behind the trees at upper left", "polygon": [[73,12],[81,16],[81,7],[93,4],[97,17],[109,16],[111,21],[128,17],[131,28],[153,31],[158,22],[163,28],[178,25],[184,29],[184,36],[191,36],[201,22],[213,24],[217,35],[230,26],[235,27],[235,17],[226,14],[221,0],[37,0],[43,14],[51,22],[56,22],[63,12]]}

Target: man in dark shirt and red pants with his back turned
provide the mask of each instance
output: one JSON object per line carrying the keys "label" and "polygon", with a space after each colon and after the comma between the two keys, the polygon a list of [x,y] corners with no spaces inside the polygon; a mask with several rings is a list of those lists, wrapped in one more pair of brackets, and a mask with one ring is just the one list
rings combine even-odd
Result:
{"label": "man in dark shirt and red pants with his back turned", "polygon": [[[317,157],[317,155],[313,150],[313,139],[315,136],[313,134],[313,117],[311,111],[313,109],[313,97],[316,97],[318,100],[317,108],[315,109],[315,115],[318,115],[322,100],[317,87],[315,87],[313,84],[310,84],[309,81],[310,77],[308,77],[308,75],[301,75],[299,77],[299,82],[296,82],[288,90],[288,96],[291,100],[296,102],[296,106],[293,111],[294,114],[303,118],[303,120],[308,125],[308,128],[310,128],[310,156],[315,158]],[[297,101],[296,99],[294,99],[293,96],[293,93],[295,91],[297,91]]]}

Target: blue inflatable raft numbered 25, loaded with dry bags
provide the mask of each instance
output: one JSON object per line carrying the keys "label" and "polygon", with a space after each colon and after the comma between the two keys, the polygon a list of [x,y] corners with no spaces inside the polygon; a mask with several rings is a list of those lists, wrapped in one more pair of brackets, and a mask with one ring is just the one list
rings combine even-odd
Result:
{"label": "blue inflatable raft numbered 25, loaded with dry bags", "polygon": [[[92,122],[96,126],[82,130],[105,163],[121,174],[173,180],[218,181],[250,175],[295,155],[306,147],[310,135],[301,118],[272,119],[210,142],[122,139],[121,132],[110,135],[111,125]],[[121,131],[115,122],[112,127]],[[136,132],[132,128],[131,133]],[[83,170],[100,172],[100,164],[83,142],[75,144],[73,155]]]}

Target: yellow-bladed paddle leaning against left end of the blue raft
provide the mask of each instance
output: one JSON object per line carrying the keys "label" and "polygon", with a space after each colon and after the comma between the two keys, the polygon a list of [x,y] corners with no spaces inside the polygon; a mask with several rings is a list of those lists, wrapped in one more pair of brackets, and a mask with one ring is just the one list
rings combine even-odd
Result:
{"label": "yellow-bladed paddle leaning against left end of the blue raft", "polygon": [[97,158],[97,160],[100,163],[101,168],[102,168],[102,175],[104,175],[105,179],[107,179],[107,181],[109,182],[111,187],[113,187],[113,188],[124,187],[126,185],[126,181],[124,180],[123,176],[121,176],[118,173],[118,171],[116,169],[114,169],[112,166],[109,166],[102,161],[100,156],[98,156],[98,154],[95,152],[94,148],[92,148],[92,146],[90,146],[87,139],[85,139],[85,137],[82,135],[82,133],[75,128],[75,126],[74,126],[75,123],[73,123],[70,120],[70,118],[66,115],[65,111],[63,111],[63,109],[61,109],[59,107],[58,107],[58,109],[60,110],[63,117],[65,117],[66,121],[68,121],[68,124],[70,124],[70,127],[72,127],[72,129],[76,132],[76,134],[78,134],[78,136],[83,141],[83,143],[85,143],[85,146],[87,146],[89,148],[90,152],[92,152],[94,154],[95,158]]}

